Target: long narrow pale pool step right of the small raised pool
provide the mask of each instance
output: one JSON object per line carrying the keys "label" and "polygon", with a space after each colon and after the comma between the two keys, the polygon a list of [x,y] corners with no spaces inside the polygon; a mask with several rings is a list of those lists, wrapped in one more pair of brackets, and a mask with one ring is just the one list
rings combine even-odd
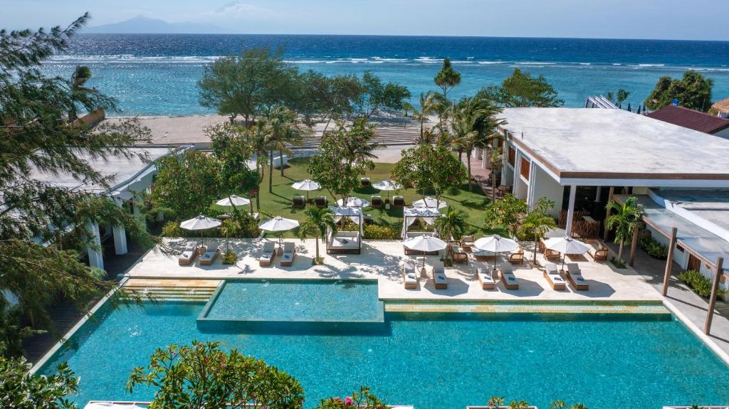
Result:
{"label": "long narrow pale pool step right of the small raised pool", "polygon": [[488,314],[671,314],[662,303],[416,303],[387,301],[385,311]]}

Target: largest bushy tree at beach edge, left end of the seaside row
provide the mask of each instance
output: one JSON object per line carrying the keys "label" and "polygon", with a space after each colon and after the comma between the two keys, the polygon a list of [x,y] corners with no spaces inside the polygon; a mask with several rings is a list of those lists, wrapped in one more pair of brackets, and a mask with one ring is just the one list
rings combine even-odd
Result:
{"label": "largest bushy tree at beach edge, left end of the seaside row", "polygon": [[200,105],[215,108],[230,122],[241,115],[248,127],[270,107],[295,103],[297,68],[284,62],[282,52],[251,48],[206,65],[198,82]]}

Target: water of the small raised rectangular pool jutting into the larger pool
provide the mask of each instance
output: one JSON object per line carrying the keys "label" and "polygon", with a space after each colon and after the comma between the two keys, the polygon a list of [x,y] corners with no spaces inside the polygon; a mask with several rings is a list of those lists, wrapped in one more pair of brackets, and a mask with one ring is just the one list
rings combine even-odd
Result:
{"label": "water of the small raised rectangular pool jutting into the larger pool", "polygon": [[[275,300],[275,302],[271,302]],[[200,319],[382,321],[376,280],[227,280]]]}

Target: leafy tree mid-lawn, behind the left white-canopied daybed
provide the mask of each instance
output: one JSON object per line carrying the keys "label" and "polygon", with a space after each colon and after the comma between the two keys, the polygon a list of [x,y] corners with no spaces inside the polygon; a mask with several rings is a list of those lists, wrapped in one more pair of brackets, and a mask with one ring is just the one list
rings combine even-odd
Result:
{"label": "leafy tree mid-lawn, behind the left white-canopied daybed", "polygon": [[333,197],[346,200],[359,186],[367,170],[375,169],[375,130],[364,119],[354,121],[351,127],[340,122],[337,128],[321,136],[319,153],[309,159],[308,172]]}

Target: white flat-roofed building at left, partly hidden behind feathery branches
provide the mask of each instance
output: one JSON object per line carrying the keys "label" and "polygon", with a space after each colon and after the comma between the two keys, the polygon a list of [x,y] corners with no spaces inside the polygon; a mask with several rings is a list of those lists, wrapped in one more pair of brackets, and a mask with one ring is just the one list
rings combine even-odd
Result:
{"label": "white flat-roofed building at left, partly hidden behind feathery branches", "polygon": [[[102,177],[108,178],[109,186],[98,186],[77,180],[68,172],[50,173],[34,168],[31,178],[52,186],[63,188],[77,188],[93,193],[109,196],[120,207],[126,207],[131,213],[139,215],[141,221],[144,204],[141,194],[149,192],[152,180],[157,174],[155,162],[163,156],[177,154],[186,147],[155,146],[130,147],[128,155],[109,156],[101,158],[90,155],[88,152],[79,152],[77,156],[89,166],[99,172]],[[117,255],[127,253],[127,234],[122,226],[103,226],[98,223],[88,223],[87,229],[93,234],[91,245],[87,247],[88,262],[90,266],[104,269],[104,257],[100,250],[102,242],[113,237],[114,252]],[[95,246],[93,246],[95,245]]]}

